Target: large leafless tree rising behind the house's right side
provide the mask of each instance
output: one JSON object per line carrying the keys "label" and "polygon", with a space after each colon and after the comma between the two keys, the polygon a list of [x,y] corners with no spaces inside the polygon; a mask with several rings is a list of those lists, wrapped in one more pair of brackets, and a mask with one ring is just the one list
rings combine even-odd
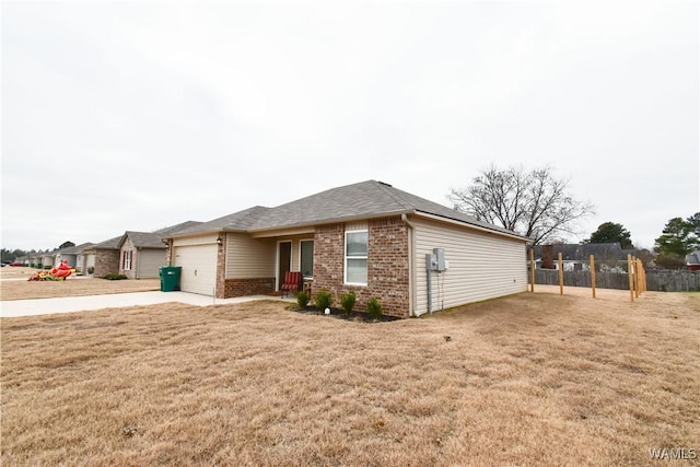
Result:
{"label": "large leafless tree rising behind the house's right side", "polygon": [[491,165],[467,188],[452,188],[447,198],[464,213],[540,244],[576,233],[576,221],[593,213],[593,205],[574,199],[568,184],[550,167],[526,172],[522,166],[501,171]]}

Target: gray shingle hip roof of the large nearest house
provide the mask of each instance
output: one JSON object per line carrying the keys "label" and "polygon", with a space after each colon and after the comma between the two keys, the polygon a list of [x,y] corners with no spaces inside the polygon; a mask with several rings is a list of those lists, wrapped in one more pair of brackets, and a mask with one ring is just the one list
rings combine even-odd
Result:
{"label": "gray shingle hip roof of the large nearest house", "polygon": [[394,188],[388,184],[368,180],[331,188],[276,208],[256,206],[180,231],[178,235],[215,231],[255,232],[413,212],[433,214],[495,232],[514,234],[506,229],[478,221],[470,215]]}

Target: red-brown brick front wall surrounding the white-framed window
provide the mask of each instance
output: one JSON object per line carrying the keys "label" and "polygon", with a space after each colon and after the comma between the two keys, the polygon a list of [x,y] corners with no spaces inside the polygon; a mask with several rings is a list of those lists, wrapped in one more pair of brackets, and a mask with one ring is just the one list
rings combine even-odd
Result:
{"label": "red-brown brick front wall surrounding the white-framed window", "polygon": [[340,295],[353,291],[357,311],[366,310],[373,296],[382,303],[385,315],[408,317],[410,314],[410,270],[408,227],[400,218],[371,220],[368,224],[368,285],[346,285],[345,224],[316,229],[314,237],[314,283],[312,294],[322,289]]}

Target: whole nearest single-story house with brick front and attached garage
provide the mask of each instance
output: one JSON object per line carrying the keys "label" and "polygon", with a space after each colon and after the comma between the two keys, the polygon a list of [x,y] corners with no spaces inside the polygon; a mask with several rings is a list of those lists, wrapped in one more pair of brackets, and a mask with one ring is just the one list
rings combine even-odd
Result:
{"label": "whole nearest single-story house with brick front and attached garage", "polygon": [[[290,270],[336,304],[353,291],[357,310],[377,297],[400,317],[527,290],[528,238],[375,180],[164,240],[168,264],[182,267],[180,290],[220,299],[279,291]],[[427,270],[435,248],[442,271]]]}

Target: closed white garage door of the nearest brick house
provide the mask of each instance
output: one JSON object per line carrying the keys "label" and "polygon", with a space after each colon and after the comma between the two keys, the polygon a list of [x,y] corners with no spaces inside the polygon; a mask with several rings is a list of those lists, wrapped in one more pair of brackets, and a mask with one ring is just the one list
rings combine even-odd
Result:
{"label": "closed white garage door of the nearest brick house", "polygon": [[217,284],[217,245],[176,246],[173,266],[182,266],[183,292],[213,295]]}

